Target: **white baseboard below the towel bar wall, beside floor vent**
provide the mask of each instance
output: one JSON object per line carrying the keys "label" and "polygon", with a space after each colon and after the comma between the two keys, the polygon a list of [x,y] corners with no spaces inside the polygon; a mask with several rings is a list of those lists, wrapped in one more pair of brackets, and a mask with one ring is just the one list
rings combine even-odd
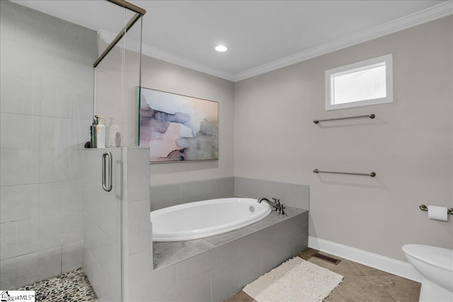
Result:
{"label": "white baseboard below the towel bar wall, beside floor vent", "polygon": [[421,282],[422,280],[420,273],[409,263],[377,255],[365,250],[359,250],[358,248],[351,248],[347,245],[312,236],[309,236],[309,248],[327,252],[328,254],[336,255],[369,267],[374,267],[375,269],[380,269],[384,272],[395,274],[396,276],[416,282]]}

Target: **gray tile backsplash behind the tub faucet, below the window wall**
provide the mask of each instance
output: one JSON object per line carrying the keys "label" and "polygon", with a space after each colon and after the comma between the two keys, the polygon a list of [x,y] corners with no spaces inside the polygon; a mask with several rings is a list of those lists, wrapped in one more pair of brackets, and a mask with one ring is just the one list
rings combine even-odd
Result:
{"label": "gray tile backsplash behind the tub faucet, below the window wall", "polygon": [[296,185],[286,182],[273,182],[251,178],[234,178],[234,192],[236,196],[260,198],[275,197],[282,204],[309,209],[309,186]]}

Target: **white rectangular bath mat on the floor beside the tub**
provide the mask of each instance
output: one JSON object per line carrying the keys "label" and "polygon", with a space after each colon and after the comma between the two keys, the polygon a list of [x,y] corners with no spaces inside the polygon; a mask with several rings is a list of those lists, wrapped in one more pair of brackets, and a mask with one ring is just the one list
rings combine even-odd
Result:
{"label": "white rectangular bath mat on the floor beside the tub", "polygon": [[320,302],[341,280],[340,274],[294,257],[247,284],[243,291],[258,302]]}

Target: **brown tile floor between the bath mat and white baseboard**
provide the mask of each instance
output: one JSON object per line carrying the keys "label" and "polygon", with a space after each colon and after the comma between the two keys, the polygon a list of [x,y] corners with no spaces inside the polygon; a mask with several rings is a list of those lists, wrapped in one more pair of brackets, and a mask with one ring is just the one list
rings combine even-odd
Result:
{"label": "brown tile floor between the bath mat and white baseboard", "polygon": [[[325,302],[416,302],[420,293],[420,284],[408,279],[404,279],[394,274],[382,272],[379,269],[360,265],[339,258],[341,262],[333,265],[329,262],[316,257],[311,257],[317,250],[306,248],[299,252],[297,256],[302,257],[311,263],[325,267],[333,272],[342,274],[345,278],[340,285],[334,289]],[[328,255],[326,253],[322,253]],[[243,291],[231,296],[224,302],[256,302]]]}

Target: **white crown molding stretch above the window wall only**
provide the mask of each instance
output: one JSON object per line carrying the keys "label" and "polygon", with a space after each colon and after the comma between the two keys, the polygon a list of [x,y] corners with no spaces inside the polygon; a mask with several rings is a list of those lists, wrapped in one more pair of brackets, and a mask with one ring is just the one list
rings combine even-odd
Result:
{"label": "white crown molding stretch above the window wall only", "polygon": [[243,79],[251,78],[252,76],[265,74],[268,71],[273,71],[275,69],[280,69],[282,67],[286,67],[292,64],[297,64],[308,59],[313,59],[314,57],[319,57],[323,54],[335,52],[336,50],[341,50],[352,45],[357,45],[362,42],[373,40],[376,39],[377,37],[382,37],[384,35],[396,33],[400,30],[411,28],[416,25],[428,23],[430,21],[435,21],[437,19],[452,14],[453,14],[453,1],[446,1],[442,4],[438,4],[437,6],[426,8],[423,11],[418,11],[417,13],[413,13],[406,17],[398,18],[395,21],[375,26],[374,28],[370,28],[369,30],[362,30],[360,33],[349,35],[347,37],[343,37],[333,42],[328,42],[318,47],[313,47],[309,50],[305,50],[304,52],[292,54],[289,57],[278,59],[274,62],[270,62],[268,64],[258,66],[256,68],[240,72],[239,74],[234,75],[234,81],[235,82],[241,81]]}

